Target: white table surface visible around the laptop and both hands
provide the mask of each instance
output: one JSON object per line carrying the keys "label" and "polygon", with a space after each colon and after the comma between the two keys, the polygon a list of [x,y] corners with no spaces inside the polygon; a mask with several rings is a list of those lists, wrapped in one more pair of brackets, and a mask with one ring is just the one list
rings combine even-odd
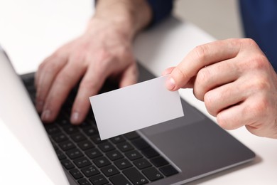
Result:
{"label": "white table surface visible around the laptop and both hands", "polygon": [[[79,36],[92,15],[90,0],[1,0],[0,44],[9,54],[19,74],[36,70],[56,48]],[[176,65],[195,46],[214,39],[190,23],[168,18],[141,33],[135,41],[136,57],[155,75]],[[203,102],[192,90],[180,95],[212,120]],[[229,131],[257,157],[251,164],[238,166],[190,184],[276,184],[277,140],[256,137],[244,127]]]}

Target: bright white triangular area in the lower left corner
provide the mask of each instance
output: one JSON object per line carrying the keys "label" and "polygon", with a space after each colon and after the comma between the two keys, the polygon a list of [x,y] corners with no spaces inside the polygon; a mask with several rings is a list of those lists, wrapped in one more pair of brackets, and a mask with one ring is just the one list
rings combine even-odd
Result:
{"label": "bright white triangular area in the lower left corner", "polygon": [[0,146],[0,184],[54,184],[6,127],[1,117]]}

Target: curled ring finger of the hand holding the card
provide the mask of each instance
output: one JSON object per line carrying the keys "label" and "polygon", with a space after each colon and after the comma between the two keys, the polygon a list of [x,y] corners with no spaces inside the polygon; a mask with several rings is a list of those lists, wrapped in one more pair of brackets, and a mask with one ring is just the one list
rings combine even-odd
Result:
{"label": "curled ring finger of the hand holding the card", "polygon": [[247,86],[244,85],[244,82],[235,81],[207,92],[204,102],[207,111],[215,117],[220,111],[238,105],[248,96]]}

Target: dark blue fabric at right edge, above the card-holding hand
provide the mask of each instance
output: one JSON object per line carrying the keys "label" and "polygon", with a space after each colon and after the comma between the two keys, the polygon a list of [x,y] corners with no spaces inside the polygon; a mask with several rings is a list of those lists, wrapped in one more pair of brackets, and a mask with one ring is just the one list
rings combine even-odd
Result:
{"label": "dark blue fabric at right edge, above the card-holding hand", "polygon": [[241,0],[244,33],[254,39],[277,71],[277,1]]}

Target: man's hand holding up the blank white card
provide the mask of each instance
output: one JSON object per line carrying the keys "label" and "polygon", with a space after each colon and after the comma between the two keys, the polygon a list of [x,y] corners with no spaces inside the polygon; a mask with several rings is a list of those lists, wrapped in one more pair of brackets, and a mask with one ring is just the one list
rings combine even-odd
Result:
{"label": "man's hand holding up the blank white card", "polygon": [[277,75],[253,40],[197,46],[163,74],[170,74],[168,90],[193,88],[224,129],[245,125],[253,134],[277,138]]}

